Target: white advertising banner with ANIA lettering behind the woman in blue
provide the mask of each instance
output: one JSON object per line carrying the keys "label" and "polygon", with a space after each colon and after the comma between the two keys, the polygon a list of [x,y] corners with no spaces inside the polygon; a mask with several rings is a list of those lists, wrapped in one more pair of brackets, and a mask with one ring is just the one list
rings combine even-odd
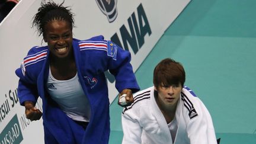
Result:
{"label": "white advertising banner with ANIA lettering behind the woman in blue", "polygon": [[[42,120],[25,118],[24,107],[17,97],[18,77],[15,69],[33,46],[46,45],[31,28],[33,16],[40,7],[38,0],[21,0],[0,24],[0,143],[44,143]],[[61,3],[62,0],[56,0]],[[89,39],[103,35],[132,55],[133,71],[151,52],[164,31],[178,17],[190,0],[95,0],[65,1],[75,13],[73,37]],[[110,103],[118,92],[114,79],[108,79]],[[39,99],[37,107],[41,109]]]}

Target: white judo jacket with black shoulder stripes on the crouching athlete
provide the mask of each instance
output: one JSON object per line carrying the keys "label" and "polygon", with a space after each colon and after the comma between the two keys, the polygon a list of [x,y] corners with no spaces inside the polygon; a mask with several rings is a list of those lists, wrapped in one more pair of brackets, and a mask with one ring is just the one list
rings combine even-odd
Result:
{"label": "white judo jacket with black shoulder stripes on the crouching athlete", "polygon": [[[177,126],[174,144],[216,144],[215,129],[209,111],[187,87],[181,91],[175,120]],[[168,124],[154,97],[154,88],[135,94],[135,101],[122,114],[123,144],[173,143]],[[174,129],[175,130],[175,129]],[[175,130],[176,131],[176,130]]]}

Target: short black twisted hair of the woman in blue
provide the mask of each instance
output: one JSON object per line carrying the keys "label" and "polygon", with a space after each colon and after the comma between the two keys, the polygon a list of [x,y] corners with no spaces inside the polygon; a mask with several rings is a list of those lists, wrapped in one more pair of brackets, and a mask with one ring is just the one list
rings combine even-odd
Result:
{"label": "short black twisted hair of the woman in blue", "polygon": [[69,7],[63,6],[64,1],[61,4],[56,4],[52,0],[46,2],[45,0],[41,2],[41,7],[38,9],[36,15],[34,15],[34,20],[32,27],[37,28],[39,36],[44,34],[45,25],[52,20],[65,20],[71,24],[71,28],[74,27],[73,12]]}

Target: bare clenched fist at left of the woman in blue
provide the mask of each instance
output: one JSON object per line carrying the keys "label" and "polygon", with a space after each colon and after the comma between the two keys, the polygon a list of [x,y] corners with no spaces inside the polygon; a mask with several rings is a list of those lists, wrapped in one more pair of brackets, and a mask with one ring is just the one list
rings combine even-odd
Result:
{"label": "bare clenched fist at left of the woman in blue", "polygon": [[43,113],[36,107],[34,107],[34,103],[31,101],[25,101],[25,115],[27,119],[30,120],[39,120]]}

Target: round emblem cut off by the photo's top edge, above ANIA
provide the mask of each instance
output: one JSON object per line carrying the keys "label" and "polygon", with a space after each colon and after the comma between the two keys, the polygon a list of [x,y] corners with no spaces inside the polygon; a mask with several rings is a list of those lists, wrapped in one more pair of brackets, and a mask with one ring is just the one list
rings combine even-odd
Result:
{"label": "round emblem cut off by the photo's top edge, above ANIA", "polygon": [[98,7],[104,15],[107,16],[108,22],[112,23],[117,18],[117,0],[96,0]]}

